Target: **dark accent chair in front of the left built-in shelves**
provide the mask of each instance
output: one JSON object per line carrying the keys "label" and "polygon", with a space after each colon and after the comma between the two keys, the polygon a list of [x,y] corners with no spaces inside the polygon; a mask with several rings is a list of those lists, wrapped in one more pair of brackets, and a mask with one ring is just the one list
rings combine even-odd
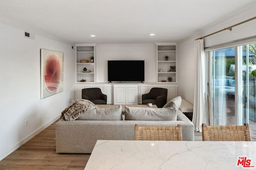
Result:
{"label": "dark accent chair in front of the left built-in shelves", "polygon": [[90,100],[94,104],[107,104],[107,95],[100,88],[82,89],[82,99]]}

